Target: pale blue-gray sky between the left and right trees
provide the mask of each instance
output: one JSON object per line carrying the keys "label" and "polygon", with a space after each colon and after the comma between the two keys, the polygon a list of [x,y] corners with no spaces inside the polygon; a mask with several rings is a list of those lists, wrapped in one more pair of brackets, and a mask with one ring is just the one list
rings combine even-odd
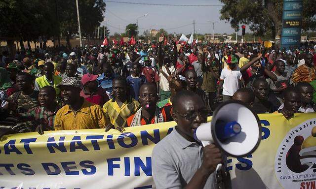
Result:
{"label": "pale blue-gray sky between the left and right trees", "polygon": [[[216,4],[219,0],[116,0],[140,3],[160,3],[160,4]],[[165,29],[168,33],[193,32],[193,20],[196,22],[197,33],[212,33],[213,27],[208,21],[218,21],[220,17],[221,6],[157,6],[157,5],[139,5],[107,2],[105,0],[106,12],[105,20],[111,34],[115,32],[124,32],[125,26],[130,23],[136,23],[136,18],[144,14],[146,17],[138,19],[140,33],[148,29]],[[101,25],[106,25],[102,22]],[[187,25],[187,26],[185,26]],[[178,28],[180,27],[180,28]],[[241,27],[241,26],[240,26]],[[247,28],[246,28],[247,29]],[[229,23],[220,21],[215,24],[215,33],[233,33]],[[246,30],[246,32],[249,32]],[[241,30],[239,30],[241,34]]]}

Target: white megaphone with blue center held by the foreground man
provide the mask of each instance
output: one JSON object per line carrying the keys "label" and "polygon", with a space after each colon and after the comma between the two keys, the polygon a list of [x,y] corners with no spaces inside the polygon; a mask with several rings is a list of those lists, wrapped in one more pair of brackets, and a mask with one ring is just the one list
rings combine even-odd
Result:
{"label": "white megaphone with blue center held by the foreground man", "polygon": [[235,158],[254,152],[261,136],[257,114],[237,100],[219,105],[211,122],[198,126],[194,134],[194,138],[203,146],[213,143],[225,154]]}

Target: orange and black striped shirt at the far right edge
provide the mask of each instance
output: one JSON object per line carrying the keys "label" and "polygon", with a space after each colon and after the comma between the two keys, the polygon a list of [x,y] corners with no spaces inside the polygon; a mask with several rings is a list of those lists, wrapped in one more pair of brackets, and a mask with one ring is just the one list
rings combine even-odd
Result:
{"label": "orange and black striped shirt at the far right edge", "polygon": [[315,79],[316,79],[315,68],[308,67],[305,64],[296,68],[292,76],[292,80],[295,83],[303,82],[303,81],[311,82]]}

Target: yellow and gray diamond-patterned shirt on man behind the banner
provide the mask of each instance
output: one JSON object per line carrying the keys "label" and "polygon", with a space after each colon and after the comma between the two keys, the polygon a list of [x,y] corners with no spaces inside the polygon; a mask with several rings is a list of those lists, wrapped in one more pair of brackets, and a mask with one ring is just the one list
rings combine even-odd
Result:
{"label": "yellow and gray diamond-patterned shirt on man behind the banner", "polygon": [[107,101],[103,105],[107,123],[111,122],[116,128],[118,126],[126,127],[127,118],[135,114],[139,108],[140,104],[134,98],[126,100],[121,107],[118,106],[118,103],[114,99]]}

